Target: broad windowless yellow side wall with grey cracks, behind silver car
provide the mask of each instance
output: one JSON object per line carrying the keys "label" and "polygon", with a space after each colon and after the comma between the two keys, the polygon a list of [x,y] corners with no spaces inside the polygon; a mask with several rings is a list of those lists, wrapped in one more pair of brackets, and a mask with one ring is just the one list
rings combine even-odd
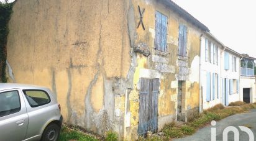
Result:
{"label": "broad windowless yellow side wall with grey cracks, behind silver car", "polygon": [[17,0],[7,42],[9,82],[51,88],[68,124],[122,134],[127,6],[125,0]]}

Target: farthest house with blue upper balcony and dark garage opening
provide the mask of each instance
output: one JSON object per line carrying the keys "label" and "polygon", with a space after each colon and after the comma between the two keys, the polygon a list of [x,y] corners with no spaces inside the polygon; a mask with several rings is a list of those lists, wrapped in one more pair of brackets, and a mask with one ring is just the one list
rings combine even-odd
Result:
{"label": "farthest house with blue upper balcony and dark garage opening", "polygon": [[252,103],[256,102],[256,89],[255,89],[255,75],[254,75],[254,61],[256,58],[249,57],[249,55],[242,54],[240,60],[240,100]]}

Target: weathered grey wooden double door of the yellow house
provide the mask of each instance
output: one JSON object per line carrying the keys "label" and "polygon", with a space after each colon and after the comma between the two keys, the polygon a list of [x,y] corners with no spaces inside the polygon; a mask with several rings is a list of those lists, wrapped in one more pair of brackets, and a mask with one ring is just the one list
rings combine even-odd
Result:
{"label": "weathered grey wooden double door of the yellow house", "polygon": [[142,78],[140,84],[138,134],[145,135],[147,131],[157,132],[159,80]]}

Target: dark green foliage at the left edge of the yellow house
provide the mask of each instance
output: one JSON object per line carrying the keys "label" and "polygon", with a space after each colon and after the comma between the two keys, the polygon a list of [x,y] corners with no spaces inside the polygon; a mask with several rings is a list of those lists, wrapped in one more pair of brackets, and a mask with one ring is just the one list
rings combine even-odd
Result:
{"label": "dark green foliage at the left edge of the yellow house", "polygon": [[6,82],[6,43],[13,3],[0,2],[0,82]]}

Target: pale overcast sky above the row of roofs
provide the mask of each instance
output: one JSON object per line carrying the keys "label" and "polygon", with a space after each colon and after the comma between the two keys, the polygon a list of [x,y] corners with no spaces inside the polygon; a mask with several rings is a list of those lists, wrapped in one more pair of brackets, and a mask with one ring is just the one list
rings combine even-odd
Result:
{"label": "pale overcast sky above the row of roofs", "polygon": [[256,58],[255,0],[173,0],[224,45]]}

